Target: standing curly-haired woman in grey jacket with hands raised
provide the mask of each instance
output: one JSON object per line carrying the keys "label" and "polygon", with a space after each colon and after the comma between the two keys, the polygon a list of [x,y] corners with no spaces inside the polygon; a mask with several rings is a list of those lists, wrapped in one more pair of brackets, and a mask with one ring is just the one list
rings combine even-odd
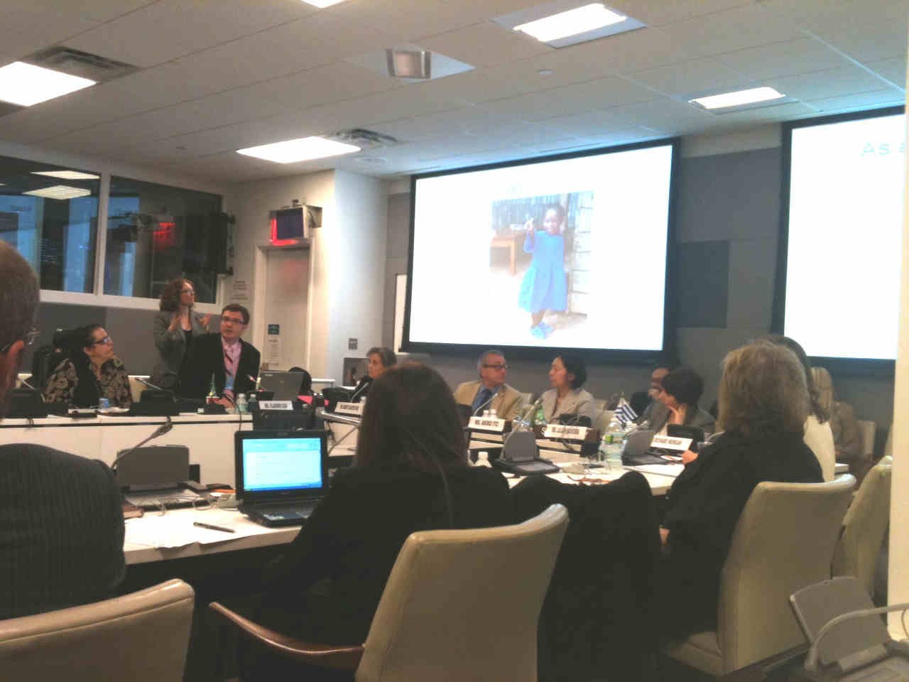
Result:
{"label": "standing curly-haired woman in grey jacket with hands raised", "polygon": [[170,280],[161,292],[161,310],[155,315],[155,346],[158,361],[151,383],[174,390],[180,385],[186,351],[194,336],[208,331],[210,315],[193,314],[195,287],[188,279]]}

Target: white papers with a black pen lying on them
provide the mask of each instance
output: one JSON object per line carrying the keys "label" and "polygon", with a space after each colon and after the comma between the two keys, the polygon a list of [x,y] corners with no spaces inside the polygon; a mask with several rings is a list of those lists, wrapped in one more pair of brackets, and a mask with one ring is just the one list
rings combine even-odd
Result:
{"label": "white papers with a black pen lying on them", "polygon": [[[261,530],[252,525],[238,524],[240,520],[238,515],[233,519],[217,516],[208,512],[196,512],[195,514],[165,514],[163,517],[157,517],[154,514],[146,514],[142,518],[130,518],[125,522],[126,525],[126,543],[135,545],[145,545],[145,547],[156,547],[159,549],[171,549],[174,547],[185,547],[192,545],[194,542],[200,545],[211,545],[216,542],[225,542],[235,540],[238,537],[254,536]],[[210,530],[193,526],[194,521],[233,528],[233,533],[225,533],[221,530]]]}

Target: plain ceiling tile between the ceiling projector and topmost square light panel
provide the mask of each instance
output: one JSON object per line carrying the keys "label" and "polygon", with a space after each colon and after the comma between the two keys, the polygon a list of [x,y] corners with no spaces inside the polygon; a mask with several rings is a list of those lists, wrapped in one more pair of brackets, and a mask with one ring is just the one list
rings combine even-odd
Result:
{"label": "plain ceiling tile between the ceiling projector and topmost square light panel", "polygon": [[420,46],[474,66],[494,66],[553,52],[549,45],[493,22],[423,38]]}

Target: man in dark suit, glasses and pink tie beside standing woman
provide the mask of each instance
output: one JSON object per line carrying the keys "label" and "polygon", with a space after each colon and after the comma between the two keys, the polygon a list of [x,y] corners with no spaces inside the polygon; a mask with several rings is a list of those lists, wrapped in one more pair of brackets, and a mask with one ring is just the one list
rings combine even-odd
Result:
{"label": "man in dark suit, glasses and pink tie beside standing woman", "polygon": [[241,338],[247,326],[249,311],[232,303],[221,311],[219,333],[193,341],[186,363],[192,376],[184,389],[186,397],[204,397],[214,381],[215,393],[220,396],[215,402],[231,407],[235,396],[255,390],[261,356],[255,346]]}

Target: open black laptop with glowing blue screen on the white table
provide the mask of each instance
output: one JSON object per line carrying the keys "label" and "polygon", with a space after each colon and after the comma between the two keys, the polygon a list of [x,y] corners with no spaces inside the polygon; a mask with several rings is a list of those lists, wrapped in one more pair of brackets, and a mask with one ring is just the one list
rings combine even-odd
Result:
{"label": "open black laptop with glowing blue screen on the white table", "polygon": [[328,489],[325,431],[237,431],[239,509],[263,526],[300,526]]}

